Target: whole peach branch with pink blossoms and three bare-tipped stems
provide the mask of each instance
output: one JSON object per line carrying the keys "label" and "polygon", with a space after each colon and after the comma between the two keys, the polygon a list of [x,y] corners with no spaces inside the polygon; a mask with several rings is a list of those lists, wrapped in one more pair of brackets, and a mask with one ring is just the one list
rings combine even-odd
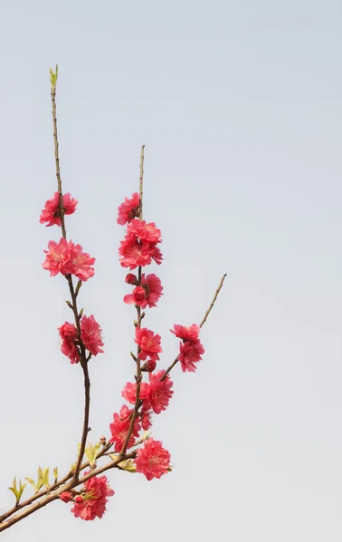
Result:
{"label": "whole peach branch with pink blossoms and three bare-tipped stems", "polygon": [[[222,277],[202,322],[175,324],[170,330],[179,339],[179,351],[176,359],[163,369],[160,360],[163,353],[161,335],[145,326],[145,311],[157,308],[161,295],[164,295],[164,288],[156,273],[147,269],[147,266],[160,266],[163,255],[159,248],[162,243],[160,229],[154,222],[143,220],[143,146],[140,154],[139,191],[125,198],[119,205],[117,220],[120,226],[126,227],[119,244],[119,263],[130,271],[125,277],[129,293],[124,295],[123,302],[133,305],[136,311],[132,329],[136,353],[130,352],[134,374],[131,381],[122,388],[121,395],[125,403],[119,412],[112,415],[108,437],[101,436],[97,444],[87,443],[90,419],[89,368],[92,358],[104,353],[104,343],[100,323],[93,314],[86,315],[78,306],[81,286],[95,275],[96,260],[83,251],[79,243],[67,238],[65,217],[77,210],[78,201],[69,192],[62,193],[55,101],[57,77],[56,67],[55,72],[51,70],[51,96],[57,192],[45,202],[40,216],[40,223],[55,228],[57,235],[44,250],[43,269],[52,277],[62,277],[70,294],[67,304],[71,309],[71,322],[61,323],[56,332],[59,332],[61,338],[62,354],[74,366],[74,370],[81,368],[84,378],[81,443],[76,463],[71,465],[70,471],[64,476],[59,477],[58,469],[54,468],[51,480],[50,469],[39,467],[36,481],[26,477],[24,483],[22,480],[17,483],[14,478],[9,488],[14,494],[14,507],[0,517],[0,531],[12,527],[53,500],[68,504],[75,518],[102,518],[109,497],[115,494],[103,472],[117,468],[142,473],[147,481],[151,481],[172,470],[171,454],[162,442],[152,436],[153,416],[162,414],[174,395],[169,373],[176,364],[179,362],[183,372],[195,372],[202,360],[204,346],[200,339],[201,327],[214,306],[225,277]],[[58,234],[60,229],[62,235]],[[22,500],[27,483],[33,487],[33,494]]]}

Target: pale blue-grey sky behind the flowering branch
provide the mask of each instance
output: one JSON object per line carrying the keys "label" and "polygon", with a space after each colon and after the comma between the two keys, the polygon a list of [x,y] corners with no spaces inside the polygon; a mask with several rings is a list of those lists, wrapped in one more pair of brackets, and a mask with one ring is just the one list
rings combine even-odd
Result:
{"label": "pale blue-grey sky behind the flowering branch", "polygon": [[[66,284],[43,270],[57,229],[49,66],[58,62],[69,237],[97,258],[81,306],[103,329],[90,363],[90,439],[109,435],[132,379],[132,318],[116,210],[138,189],[162,229],[165,287],[146,325],[205,323],[195,374],[153,435],[172,454],[160,481],[109,472],[103,519],[54,502],[8,542],[340,542],[342,537],[342,6],[337,0],[51,2],[0,6],[0,512],[16,475],[66,472],[81,437],[81,368],[59,350]],[[27,488],[27,495],[30,490]]]}

